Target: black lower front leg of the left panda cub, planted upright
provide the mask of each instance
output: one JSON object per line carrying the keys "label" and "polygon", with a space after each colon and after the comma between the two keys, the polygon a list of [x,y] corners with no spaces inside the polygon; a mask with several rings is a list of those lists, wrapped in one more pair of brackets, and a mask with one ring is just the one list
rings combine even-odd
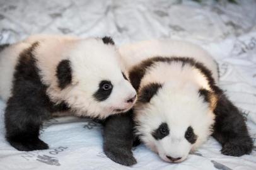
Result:
{"label": "black lower front leg of the left panda cub, planted upright", "polygon": [[9,98],[5,110],[6,140],[21,151],[48,149],[39,139],[39,130],[49,112],[35,91],[19,91]]}

